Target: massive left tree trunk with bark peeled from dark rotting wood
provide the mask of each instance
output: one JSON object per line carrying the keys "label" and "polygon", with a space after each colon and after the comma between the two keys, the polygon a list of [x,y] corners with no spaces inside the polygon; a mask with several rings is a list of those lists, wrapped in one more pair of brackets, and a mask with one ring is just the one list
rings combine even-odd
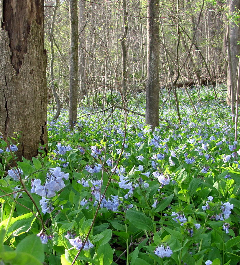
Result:
{"label": "massive left tree trunk with bark peeled from dark rotting wood", "polygon": [[19,159],[47,144],[44,0],[0,0],[0,130],[19,132]]}

